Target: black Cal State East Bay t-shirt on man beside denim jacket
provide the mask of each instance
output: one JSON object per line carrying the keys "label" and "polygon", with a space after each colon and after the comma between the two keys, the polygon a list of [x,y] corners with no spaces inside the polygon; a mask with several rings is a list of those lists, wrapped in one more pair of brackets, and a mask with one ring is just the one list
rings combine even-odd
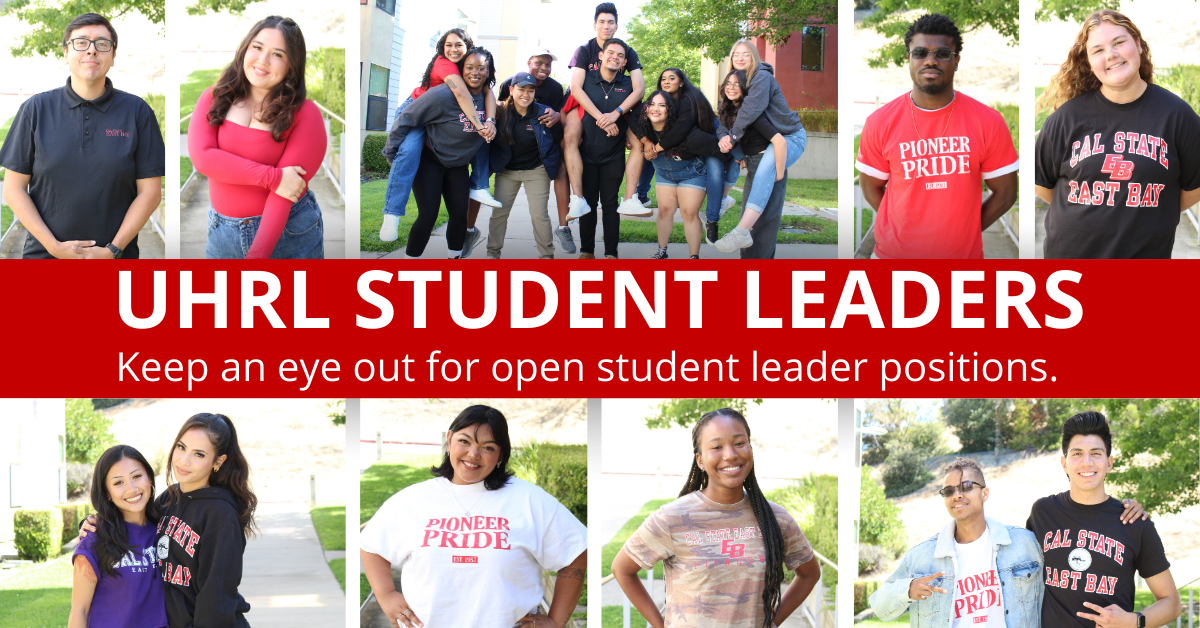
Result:
{"label": "black Cal State East Bay t-shirt on man beside denim jacket", "polygon": [[1085,602],[1133,611],[1134,570],[1150,578],[1171,567],[1154,522],[1122,525],[1123,510],[1111,497],[1085,506],[1068,492],[1033,503],[1025,527],[1045,556],[1042,626],[1094,628],[1094,622],[1075,615],[1091,612]]}

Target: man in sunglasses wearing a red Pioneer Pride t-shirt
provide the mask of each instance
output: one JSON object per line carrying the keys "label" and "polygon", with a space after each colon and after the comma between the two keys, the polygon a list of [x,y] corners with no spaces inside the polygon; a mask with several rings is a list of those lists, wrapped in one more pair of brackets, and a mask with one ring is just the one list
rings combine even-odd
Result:
{"label": "man in sunglasses wearing a red Pioneer Pride t-shirt", "polygon": [[871,257],[982,259],[983,229],[1016,199],[1013,136],[1000,112],[954,91],[962,36],[950,18],[922,16],[905,47],[913,89],[866,118],[854,162],[876,211]]}

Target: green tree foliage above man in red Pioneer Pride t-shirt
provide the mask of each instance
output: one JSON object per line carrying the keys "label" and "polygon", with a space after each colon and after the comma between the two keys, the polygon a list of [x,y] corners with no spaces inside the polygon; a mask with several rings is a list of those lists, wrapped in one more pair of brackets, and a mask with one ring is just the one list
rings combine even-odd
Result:
{"label": "green tree foliage above man in red Pioneer Pride t-shirt", "polygon": [[[1069,0],[1068,0],[1069,1]],[[1008,40],[1016,54],[1020,34],[1016,24],[1018,2],[1012,0],[880,0],[875,13],[863,19],[863,28],[874,29],[888,38],[882,48],[875,50],[875,56],[868,60],[871,67],[902,66],[907,58],[904,46],[904,34],[908,25],[919,16],[906,14],[907,11],[942,13],[954,20],[962,35],[991,26]],[[964,49],[964,52],[967,52]],[[997,50],[980,50],[980,55],[998,54]]]}

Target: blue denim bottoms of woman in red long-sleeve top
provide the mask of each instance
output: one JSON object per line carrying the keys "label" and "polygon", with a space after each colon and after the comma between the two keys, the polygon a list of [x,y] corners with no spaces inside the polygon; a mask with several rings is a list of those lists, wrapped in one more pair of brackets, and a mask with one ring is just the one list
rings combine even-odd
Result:
{"label": "blue denim bottoms of woman in red long-sleeve top", "polygon": [[[245,259],[254,244],[262,216],[234,219],[209,208],[209,238],[204,257],[209,259]],[[271,259],[324,259],[325,225],[312,190],[306,190],[292,205],[283,233],[275,243]]]}

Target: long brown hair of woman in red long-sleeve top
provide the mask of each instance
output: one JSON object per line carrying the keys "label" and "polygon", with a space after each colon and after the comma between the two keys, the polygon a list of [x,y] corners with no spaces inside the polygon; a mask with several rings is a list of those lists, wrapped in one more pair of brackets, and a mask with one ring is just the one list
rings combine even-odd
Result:
{"label": "long brown hair of woman in red long-sleeve top", "polygon": [[304,34],[300,32],[300,26],[292,18],[271,16],[250,29],[250,32],[238,46],[233,62],[221,73],[216,85],[212,85],[212,104],[209,107],[208,120],[210,125],[220,126],[224,122],[229,108],[250,95],[250,80],[246,79],[246,70],[242,66],[250,43],[263,29],[280,31],[287,47],[288,76],[283,77],[278,85],[271,88],[266,100],[263,101],[263,113],[259,116],[264,124],[271,126],[271,137],[276,142],[282,142],[283,134],[292,127],[293,116],[308,97],[304,79],[305,59],[308,53],[305,48]]}

